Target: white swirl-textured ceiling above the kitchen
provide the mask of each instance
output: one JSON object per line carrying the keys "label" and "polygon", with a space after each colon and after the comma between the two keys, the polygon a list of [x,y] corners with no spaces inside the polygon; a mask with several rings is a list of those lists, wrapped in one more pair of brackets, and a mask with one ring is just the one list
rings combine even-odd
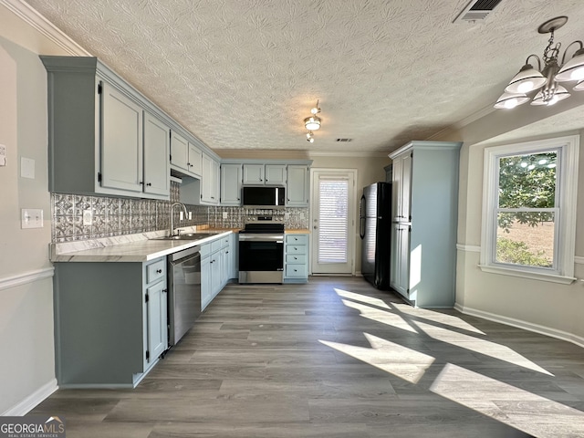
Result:
{"label": "white swirl-textured ceiling above the kitchen", "polygon": [[453,24],[468,0],[27,3],[214,150],[392,151],[492,106],[548,18],[584,36],[582,0],[503,0],[476,25]]}

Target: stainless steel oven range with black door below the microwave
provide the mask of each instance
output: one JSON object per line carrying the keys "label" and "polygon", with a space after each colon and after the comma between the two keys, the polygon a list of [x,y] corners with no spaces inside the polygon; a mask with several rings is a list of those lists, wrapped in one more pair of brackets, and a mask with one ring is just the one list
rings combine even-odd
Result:
{"label": "stainless steel oven range with black door below the microwave", "polygon": [[284,281],[283,217],[249,216],[239,232],[239,283]]}

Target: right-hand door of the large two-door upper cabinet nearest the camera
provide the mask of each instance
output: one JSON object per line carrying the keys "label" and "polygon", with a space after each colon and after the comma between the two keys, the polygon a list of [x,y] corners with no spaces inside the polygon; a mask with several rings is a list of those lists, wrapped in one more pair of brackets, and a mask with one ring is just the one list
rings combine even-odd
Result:
{"label": "right-hand door of the large two-door upper cabinet nearest the camera", "polygon": [[170,128],[162,120],[144,112],[144,193],[162,196],[170,193],[170,132]]}

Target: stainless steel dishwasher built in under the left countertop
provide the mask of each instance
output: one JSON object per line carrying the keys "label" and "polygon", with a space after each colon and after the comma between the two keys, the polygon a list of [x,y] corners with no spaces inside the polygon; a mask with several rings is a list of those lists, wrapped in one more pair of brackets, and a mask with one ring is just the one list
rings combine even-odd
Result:
{"label": "stainless steel dishwasher built in under the left countertop", "polygon": [[193,246],[168,256],[169,346],[183,338],[201,314],[200,249]]}

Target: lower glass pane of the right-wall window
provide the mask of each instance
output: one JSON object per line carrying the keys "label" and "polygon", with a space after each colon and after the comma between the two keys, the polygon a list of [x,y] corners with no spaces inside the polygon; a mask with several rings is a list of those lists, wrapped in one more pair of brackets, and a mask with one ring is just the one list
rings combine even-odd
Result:
{"label": "lower glass pane of the right-wall window", "polygon": [[552,267],[555,214],[497,214],[496,261],[511,265]]}

